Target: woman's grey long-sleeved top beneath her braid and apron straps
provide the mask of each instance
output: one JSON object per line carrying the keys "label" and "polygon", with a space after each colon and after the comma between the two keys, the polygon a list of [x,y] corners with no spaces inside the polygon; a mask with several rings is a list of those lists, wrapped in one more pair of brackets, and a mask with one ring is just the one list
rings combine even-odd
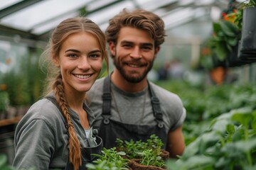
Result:
{"label": "woman's grey long-sleeved top beneath her braid and apron straps", "polygon": [[[84,105],[90,125],[95,117]],[[85,130],[77,113],[69,109],[81,147],[87,147]],[[43,98],[29,108],[18,123],[14,145],[16,155],[13,165],[17,169],[35,166],[37,170],[64,169],[68,162],[68,134],[58,108]]]}

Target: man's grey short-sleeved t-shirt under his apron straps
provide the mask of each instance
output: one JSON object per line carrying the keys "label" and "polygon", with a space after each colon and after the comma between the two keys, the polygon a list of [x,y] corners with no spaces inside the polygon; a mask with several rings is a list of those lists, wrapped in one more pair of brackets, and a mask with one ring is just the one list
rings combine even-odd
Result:
{"label": "man's grey short-sleeved t-shirt under his apron straps", "polygon": [[[104,78],[97,79],[90,91],[87,91],[87,98],[89,98],[88,105],[96,118],[95,123],[93,123],[95,128],[99,128],[102,121],[103,81]],[[183,124],[186,118],[186,110],[183,108],[181,99],[176,94],[152,82],[150,82],[150,86],[154,90],[156,97],[159,98],[166,133],[170,130],[175,130]],[[137,93],[122,91],[117,86],[114,86],[114,84],[111,84],[111,88],[112,102],[110,119],[132,125],[156,125],[148,87]]]}

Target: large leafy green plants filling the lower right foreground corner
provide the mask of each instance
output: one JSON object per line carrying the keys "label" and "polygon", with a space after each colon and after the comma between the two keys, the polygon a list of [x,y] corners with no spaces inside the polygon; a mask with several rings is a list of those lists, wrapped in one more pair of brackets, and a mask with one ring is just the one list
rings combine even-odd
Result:
{"label": "large leafy green plants filling the lower right foreground corner", "polygon": [[255,169],[256,111],[240,108],[213,119],[169,169]]}

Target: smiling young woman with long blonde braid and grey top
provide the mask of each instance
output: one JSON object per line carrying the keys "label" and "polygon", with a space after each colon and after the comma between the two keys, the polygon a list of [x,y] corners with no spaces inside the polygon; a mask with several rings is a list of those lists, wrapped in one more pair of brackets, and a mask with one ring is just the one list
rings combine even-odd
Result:
{"label": "smiling young woman with long blonde braid and grey top", "polygon": [[[46,97],[37,101],[15,132],[17,169],[85,169],[102,140],[85,93],[107,61],[105,35],[87,18],[68,18],[53,31],[41,62],[47,65]],[[42,64],[41,64],[42,65]]]}

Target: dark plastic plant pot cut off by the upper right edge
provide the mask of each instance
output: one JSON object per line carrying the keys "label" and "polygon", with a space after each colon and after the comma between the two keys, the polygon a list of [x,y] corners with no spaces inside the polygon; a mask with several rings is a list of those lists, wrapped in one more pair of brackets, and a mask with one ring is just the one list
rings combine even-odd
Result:
{"label": "dark plastic plant pot cut off by the upper right edge", "polygon": [[[242,14],[242,37],[240,46],[241,58],[256,58],[256,7],[248,7]],[[248,57],[250,55],[250,57]],[[256,59],[255,59],[256,60]]]}

